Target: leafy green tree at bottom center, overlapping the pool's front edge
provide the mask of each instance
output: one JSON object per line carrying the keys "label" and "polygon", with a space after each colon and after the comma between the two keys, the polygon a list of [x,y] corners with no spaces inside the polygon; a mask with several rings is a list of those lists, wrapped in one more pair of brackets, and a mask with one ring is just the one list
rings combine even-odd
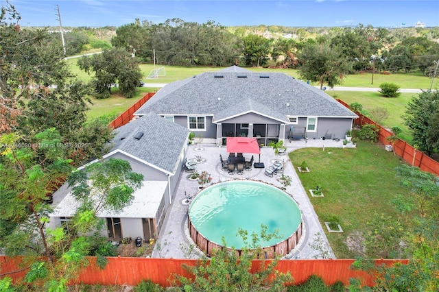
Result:
{"label": "leafy green tree at bottom center, overlapping the pool's front edge", "polygon": [[[267,226],[261,226],[261,234],[252,233],[251,242],[248,232],[238,230],[246,247],[241,256],[235,249],[226,248],[213,251],[211,259],[205,258],[198,265],[191,267],[183,265],[194,278],[176,275],[176,280],[185,291],[284,291],[285,282],[292,282],[289,273],[279,273],[275,267],[278,259],[265,263],[261,245],[278,236],[276,232],[267,233]],[[223,239],[223,246],[227,246]],[[258,257],[260,256],[260,258]],[[252,260],[261,259],[261,264],[252,272]]]}

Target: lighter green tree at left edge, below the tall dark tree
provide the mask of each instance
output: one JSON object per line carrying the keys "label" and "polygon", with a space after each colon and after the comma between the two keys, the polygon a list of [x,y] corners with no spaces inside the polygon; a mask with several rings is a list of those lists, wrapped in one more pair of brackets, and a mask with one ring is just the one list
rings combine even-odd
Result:
{"label": "lighter green tree at left edge, below the tall dark tree", "polygon": [[1,224],[1,229],[8,230],[2,230],[6,236],[0,239],[0,246],[7,254],[47,254],[54,265],[45,230],[47,195],[67,178],[71,160],[62,158],[65,148],[56,147],[61,136],[55,129],[38,133],[35,138],[38,144],[23,142],[16,134],[0,139],[0,219],[9,223]]}

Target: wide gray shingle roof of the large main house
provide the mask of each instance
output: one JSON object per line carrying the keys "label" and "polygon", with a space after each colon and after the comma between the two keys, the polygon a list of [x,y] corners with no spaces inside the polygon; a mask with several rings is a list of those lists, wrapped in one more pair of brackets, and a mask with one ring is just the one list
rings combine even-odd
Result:
{"label": "wide gray shingle roof of the large main house", "polygon": [[287,116],[357,117],[331,96],[305,82],[283,73],[254,73],[237,66],[167,84],[136,114],[206,114],[218,120],[227,109],[244,112],[242,109],[248,109],[249,100],[282,120]]}

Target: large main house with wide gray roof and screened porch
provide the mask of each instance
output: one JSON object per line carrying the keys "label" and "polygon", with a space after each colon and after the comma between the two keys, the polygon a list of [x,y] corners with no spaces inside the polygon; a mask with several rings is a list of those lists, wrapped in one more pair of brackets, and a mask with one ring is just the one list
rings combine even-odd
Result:
{"label": "large main house with wide gray roof and screened porch", "polygon": [[284,73],[238,66],[167,84],[137,116],[154,112],[195,136],[257,137],[259,144],[294,138],[344,138],[358,116],[333,97]]}

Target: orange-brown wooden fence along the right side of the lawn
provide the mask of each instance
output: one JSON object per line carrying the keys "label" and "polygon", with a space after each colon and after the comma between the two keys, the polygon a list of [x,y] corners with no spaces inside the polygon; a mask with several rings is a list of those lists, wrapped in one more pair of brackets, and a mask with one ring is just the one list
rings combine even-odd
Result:
{"label": "orange-brown wooden fence along the right side of the lawn", "polygon": [[[340,99],[337,99],[337,101],[340,102],[340,104],[346,106],[346,108],[349,108],[349,105],[346,104],[344,101]],[[359,118],[355,120],[355,125],[377,125],[377,127],[379,127],[379,141],[384,145],[390,144],[390,142],[387,141],[386,138],[388,136],[392,136],[392,132],[388,131],[378,123],[375,123],[375,121],[372,121],[368,117],[364,117],[364,115],[360,114],[359,112],[356,112],[356,114],[359,115]],[[410,163],[410,165],[419,167],[419,169],[422,171],[427,171],[429,173],[433,173],[434,175],[439,175],[439,162],[427,156],[427,154],[423,153],[423,151],[414,149],[412,145],[401,140],[400,138],[397,138],[392,146],[395,154],[403,158],[403,160],[405,160],[406,162]]]}

